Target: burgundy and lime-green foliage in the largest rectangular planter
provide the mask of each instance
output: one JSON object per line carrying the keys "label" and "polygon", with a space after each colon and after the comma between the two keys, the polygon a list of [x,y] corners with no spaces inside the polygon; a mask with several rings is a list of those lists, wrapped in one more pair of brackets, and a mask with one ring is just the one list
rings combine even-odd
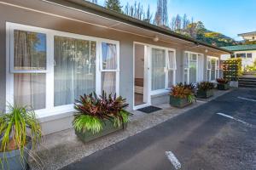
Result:
{"label": "burgundy and lime-green foliage in the largest rectangular planter", "polygon": [[96,93],[80,96],[74,108],[78,111],[74,116],[73,127],[77,131],[99,133],[102,130],[103,120],[113,122],[116,127],[123,127],[129,121],[130,112],[125,111],[126,99],[116,94],[107,95],[104,91],[101,96]]}

